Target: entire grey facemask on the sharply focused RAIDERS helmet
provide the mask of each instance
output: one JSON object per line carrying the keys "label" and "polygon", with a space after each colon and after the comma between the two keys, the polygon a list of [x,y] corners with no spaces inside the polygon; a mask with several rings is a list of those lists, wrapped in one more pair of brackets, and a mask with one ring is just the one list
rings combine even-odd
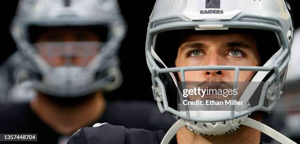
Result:
{"label": "entire grey facemask on the sharply focused RAIDERS helmet", "polygon": [[[237,22],[242,18],[253,18],[253,19],[261,19],[266,21],[275,21],[279,26],[262,23],[257,24],[257,22]],[[182,21],[180,22],[173,22],[169,25],[159,25],[155,28],[152,28],[154,23],[156,21],[164,21],[164,20],[170,20],[170,19],[180,19]],[[183,22],[187,21],[187,22]],[[183,24],[184,23],[184,24]],[[173,68],[159,68],[159,66],[155,63],[152,55],[151,55],[151,45],[153,44],[153,37],[160,32],[168,31],[168,30],[175,30],[175,29],[186,29],[186,28],[195,28],[199,27],[200,25],[222,25],[222,26],[228,26],[230,28],[252,28],[252,29],[263,29],[263,30],[270,30],[274,31],[279,35],[279,42],[282,43],[282,53],[277,56],[275,62],[271,64],[270,66],[192,66],[192,67],[173,67]],[[290,43],[288,41],[291,41],[291,38],[288,40],[288,36],[285,35],[283,29],[280,28],[282,23],[279,21],[278,18],[270,18],[270,17],[261,17],[261,16],[252,16],[248,14],[240,14],[234,20],[232,21],[189,21],[184,17],[181,16],[174,16],[174,17],[165,17],[165,18],[157,18],[152,19],[149,24],[149,30],[147,34],[147,40],[146,40],[146,58],[147,63],[150,69],[150,72],[152,74],[152,84],[153,84],[153,91],[157,93],[156,96],[154,96],[154,99],[156,99],[158,103],[158,107],[160,108],[161,112],[168,111],[175,115],[177,115],[180,118],[190,120],[190,121],[196,121],[196,122],[220,122],[220,121],[227,121],[232,120],[234,118],[242,117],[244,115],[250,114],[253,111],[257,110],[263,110],[263,111],[270,111],[274,105],[275,101],[271,103],[268,107],[263,106],[264,99],[266,97],[266,93],[268,90],[268,87],[272,84],[272,82],[275,82],[276,89],[276,96],[280,96],[280,73],[286,69],[288,61],[290,59]],[[155,25],[156,26],[156,25]],[[267,82],[263,86],[263,91],[261,92],[260,101],[259,104],[251,107],[247,111],[243,111],[237,114],[234,114],[234,105],[231,107],[230,115],[228,117],[223,118],[215,118],[215,119],[203,119],[203,118],[194,118],[190,117],[189,112],[186,112],[186,114],[179,113],[175,109],[169,107],[166,97],[166,91],[164,88],[163,83],[157,76],[158,73],[172,73],[172,72],[180,72],[184,75],[185,71],[192,71],[192,70],[234,70],[235,71],[235,82],[237,82],[238,73],[240,70],[246,70],[246,71],[271,71],[274,70],[275,74],[273,74]],[[184,82],[184,76],[182,77]],[[158,88],[157,88],[158,87]],[[279,89],[278,89],[279,88]],[[278,91],[279,90],[279,91]],[[154,94],[155,95],[155,94]],[[278,96],[279,95],[279,96]],[[234,98],[234,97],[233,97]]]}

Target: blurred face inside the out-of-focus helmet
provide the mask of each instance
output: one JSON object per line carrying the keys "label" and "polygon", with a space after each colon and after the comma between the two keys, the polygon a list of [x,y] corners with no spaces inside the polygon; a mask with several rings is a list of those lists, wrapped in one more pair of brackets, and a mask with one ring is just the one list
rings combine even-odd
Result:
{"label": "blurred face inside the out-of-focus helmet", "polygon": [[79,27],[49,28],[39,35],[36,43],[43,43],[37,46],[38,52],[51,66],[57,67],[86,65],[99,51],[99,41],[91,29]]}

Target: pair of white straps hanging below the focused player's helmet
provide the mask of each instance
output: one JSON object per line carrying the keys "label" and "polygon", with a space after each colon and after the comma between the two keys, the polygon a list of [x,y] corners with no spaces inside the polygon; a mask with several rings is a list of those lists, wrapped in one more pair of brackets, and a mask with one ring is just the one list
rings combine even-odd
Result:
{"label": "pair of white straps hanging below the focused player's helmet", "polygon": [[[287,138],[286,136],[282,135],[281,133],[277,132],[275,129],[260,123],[258,121],[255,121],[253,119],[247,118],[243,123],[243,125],[247,125],[251,128],[257,129],[263,133],[265,133],[266,135],[270,136],[271,138],[275,139],[276,141],[278,141],[281,144],[297,144],[294,141],[290,140],[289,138]],[[160,144],[169,144],[169,142],[172,140],[172,138],[175,136],[175,134],[177,133],[177,131],[179,131],[179,129],[181,127],[183,127],[184,121],[182,119],[179,119],[166,133],[166,135],[164,136],[163,140],[161,141]]]}

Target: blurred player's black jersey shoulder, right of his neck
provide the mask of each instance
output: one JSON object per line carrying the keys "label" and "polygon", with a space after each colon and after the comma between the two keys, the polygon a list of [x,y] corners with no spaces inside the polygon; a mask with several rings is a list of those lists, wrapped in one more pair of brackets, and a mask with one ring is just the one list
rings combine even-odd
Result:
{"label": "blurred player's black jersey shoulder, right of his neck", "polygon": [[157,103],[115,101],[107,104],[106,112],[100,122],[123,125],[126,128],[167,131],[176,119],[170,113],[160,113]]}

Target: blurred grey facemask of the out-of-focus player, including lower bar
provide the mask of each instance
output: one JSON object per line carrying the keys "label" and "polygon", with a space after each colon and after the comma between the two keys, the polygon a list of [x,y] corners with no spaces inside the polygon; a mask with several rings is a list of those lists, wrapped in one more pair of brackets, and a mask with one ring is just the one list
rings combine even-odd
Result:
{"label": "blurred grey facemask of the out-of-focus player, including lower bar", "polygon": [[[20,51],[25,55],[25,57],[30,60],[36,67],[36,73],[40,75],[46,75],[50,70],[50,65],[45,62],[45,60],[37,54],[37,51],[32,43],[28,41],[28,26],[87,26],[87,25],[106,25],[108,28],[107,40],[101,47],[101,52],[98,53],[89,63],[86,65],[85,69],[88,69],[91,73],[107,73],[107,75],[101,78],[95,79],[95,81],[88,87],[76,88],[74,92],[69,91],[58,91],[50,86],[47,86],[40,80],[33,80],[34,87],[43,91],[47,94],[56,97],[80,97],[89,94],[98,89],[102,90],[113,90],[118,88],[122,83],[122,76],[119,69],[119,58],[117,56],[117,51],[120,44],[125,37],[126,24],[121,16],[111,17],[99,17],[98,19],[54,19],[47,21],[36,21],[28,20],[16,17],[12,22],[11,34],[16,41],[17,46]],[[112,80],[112,78],[114,80]]]}

